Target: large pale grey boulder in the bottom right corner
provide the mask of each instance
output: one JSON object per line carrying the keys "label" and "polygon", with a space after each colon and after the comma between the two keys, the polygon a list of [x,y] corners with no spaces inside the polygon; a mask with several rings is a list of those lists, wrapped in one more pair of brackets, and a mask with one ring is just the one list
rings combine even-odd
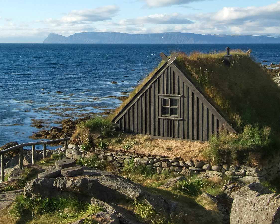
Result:
{"label": "large pale grey boulder in the bottom right corner", "polygon": [[235,193],[230,224],[280,223],[280,195],[260,183],[251,183]]}

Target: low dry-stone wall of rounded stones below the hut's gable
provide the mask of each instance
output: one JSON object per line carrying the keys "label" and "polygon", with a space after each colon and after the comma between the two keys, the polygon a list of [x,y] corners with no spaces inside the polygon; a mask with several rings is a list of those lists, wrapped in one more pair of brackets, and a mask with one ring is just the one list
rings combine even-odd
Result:
{"label": "low dry-stone wall of rounded stones below the hut's gable", "polygon": [[[122,167],[125,160],[133,159],[135,164],[142,164],[149,166],[156,170],[158,174],[164,171],[176,172],[184,176],[192,174],[206,175],[208,177],[224,175],[232,176],[233,179],[240,179],[246,182],[260,182],[264,180],[274,179],[280,176],[280,162],[274,162],[274,165],[267,165],[265,169],[258,169],[241,165],[239,167],[234,165],[211,165],[203,161],[188,160],[183,161],[180,158],[168,158],[162,156],[146,157],[139,154],[131,154],[125,152],[116,152],[108,150],[95,149],[91,153],[98,156],[100,160],[106,160],[113,163],[116,167]],[[86,156],[82,153],[80,148],[76,145],[70,144],[66,150],[66,157],[78,159]]]}

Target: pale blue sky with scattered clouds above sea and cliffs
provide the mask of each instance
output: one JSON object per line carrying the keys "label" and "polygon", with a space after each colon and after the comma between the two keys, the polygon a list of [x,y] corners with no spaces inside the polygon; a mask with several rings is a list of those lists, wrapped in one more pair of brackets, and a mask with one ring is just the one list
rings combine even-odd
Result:
{"label": "pale blue sky with scattered clouds above sea and cliffs", "polygon": [[76,32],[279,34],[280,1],[0,0],[0,43]]}

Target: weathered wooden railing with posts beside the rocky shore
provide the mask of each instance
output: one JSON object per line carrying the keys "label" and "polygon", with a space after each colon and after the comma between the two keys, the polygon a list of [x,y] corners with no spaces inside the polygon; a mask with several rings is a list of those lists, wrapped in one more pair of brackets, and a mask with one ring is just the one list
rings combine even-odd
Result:
{"label": "weathered wooden railing with posts beside the rocky shore", "polygon": [[32,164],[35,163],[35,146],[36,145],[43,145],[43,158],[46,158],[46,145],[47,144],[55,144],[55,143],[60,143],[61,141],[64,141],[64,147],[65,150],[68,148],[68,141],[70,138],[61,138],[61,139],[55,139],[55,140],[50,140],[50,141],[39,141],[39,142],[29,142],[29,143],[22,143],[18,144],[16,146],[12,146],[8,149],[1,150],[0,151],[0,160],[1,160],[1,177],[0,177],[0,183],[4,181],[4,157],[5,153],[10,152],[10,151],[15,151],[19,149],[19,167],[20,169],[23,168],[23,147],[24,146],[32,146]]}

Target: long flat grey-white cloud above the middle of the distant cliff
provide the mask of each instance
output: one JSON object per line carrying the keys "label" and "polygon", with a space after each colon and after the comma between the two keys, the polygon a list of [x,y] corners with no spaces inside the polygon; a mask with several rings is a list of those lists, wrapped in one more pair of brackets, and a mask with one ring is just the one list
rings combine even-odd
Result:
{"label": "long flat grey-white cloud above the middle of the distant cliff", "polygon": [[186,16],[171,13],[171,14],[154,14],[136,19],[124,19],[119,22],[120,25],[133,24],[190,24],[192,21],[188,20]]}

